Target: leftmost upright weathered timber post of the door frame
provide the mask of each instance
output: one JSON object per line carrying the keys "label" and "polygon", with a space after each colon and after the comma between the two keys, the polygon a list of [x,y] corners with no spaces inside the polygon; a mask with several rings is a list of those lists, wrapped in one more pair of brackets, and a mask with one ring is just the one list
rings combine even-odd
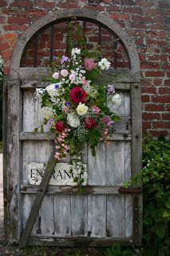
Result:
{"label": "leftmost upright weathered timber post of the door frame", "polygon": [[20,82],[8,83],[8,134],[6,166],[8,176],[8,242],[18,242],[21,234],[21,194],[20,194],[20,159],[21,144],[19,131],[21,126]]}

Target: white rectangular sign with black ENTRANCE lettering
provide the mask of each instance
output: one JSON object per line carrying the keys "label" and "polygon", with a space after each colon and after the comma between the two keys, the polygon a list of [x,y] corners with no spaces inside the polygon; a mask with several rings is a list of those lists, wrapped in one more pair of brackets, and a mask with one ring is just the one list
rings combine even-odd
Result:
{"label": "white rectangular sign with black ENTRANCE lettering", "polygon": [[[87,165],[83,164],[85,171],[84,174],[80,174],[80,170],[73,169],[73,166],[69,163],[57,163],[55,166],[49,185],[55,186],[76,186],[73,182],[73,178],[84,178],[85,182],[82,185],[87,185]],[[70,174],[70,170],[73,169],[73,174]],[[32,185],[40,185],[43,174],[45,172],[45,163],[42,162],[29,162],[28,163],[28,181]]]}

